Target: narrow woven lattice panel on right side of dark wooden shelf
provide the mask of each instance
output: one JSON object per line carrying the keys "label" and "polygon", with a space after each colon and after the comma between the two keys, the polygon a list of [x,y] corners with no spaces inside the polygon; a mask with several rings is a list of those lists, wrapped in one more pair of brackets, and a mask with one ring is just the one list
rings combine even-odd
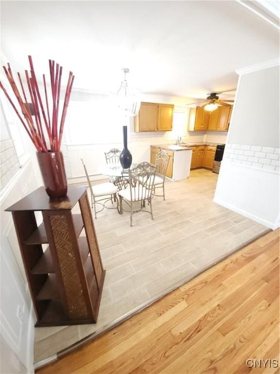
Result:
{"label": "narrow woven lattice panel on right side of dark wooden shelf", "polygon": [[91,218],[91,212],[90,212],[90,209],[89,209],[88,200],[87,200],[86,195],[84,195],[80,199],[80,207],[81,207],[81,210],[83,212],[83,219],[84,219],[85,230],[86,230],[87,237],[88,237],[89,250],[90,250],[95,274],[96,274],[96,277],[97,277],[96,281],[97,281],[98,287],[100,288],[103,268],[102,268],[102,265],[101,265],[101,259],[100,259],[100,255],[99,255],[97,242],[96,242],[96,235],[95,235],[95,232],[94,232],[94,227],[93,227],[92,218]]}

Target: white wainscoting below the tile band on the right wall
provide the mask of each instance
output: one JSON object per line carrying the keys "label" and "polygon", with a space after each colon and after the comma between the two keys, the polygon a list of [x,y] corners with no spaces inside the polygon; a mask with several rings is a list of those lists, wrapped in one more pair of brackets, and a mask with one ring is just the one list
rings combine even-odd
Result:
{"label": "white wainscoting below the tile band on the right wall", "polygon": [[280,226],[280,175],[222,161],[214,202],[273,230]]}

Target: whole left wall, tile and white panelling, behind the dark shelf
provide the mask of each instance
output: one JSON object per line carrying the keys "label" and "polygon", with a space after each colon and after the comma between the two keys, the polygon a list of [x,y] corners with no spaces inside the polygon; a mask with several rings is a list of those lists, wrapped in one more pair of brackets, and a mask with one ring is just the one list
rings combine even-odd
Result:
{"label": "whole left wall, tile and white panelling, behind the dark shelf", "polygon": [[18,128],[20,124],[14,121],[15,117],[6,99],[1,99],[0,372],[33,373],[33,305],[12,214],[5,212],[5,209],[41,185],[41,177],[34,167],[34,147],[27,135],[24,137],[26,143],[22,142],[21,131]]}

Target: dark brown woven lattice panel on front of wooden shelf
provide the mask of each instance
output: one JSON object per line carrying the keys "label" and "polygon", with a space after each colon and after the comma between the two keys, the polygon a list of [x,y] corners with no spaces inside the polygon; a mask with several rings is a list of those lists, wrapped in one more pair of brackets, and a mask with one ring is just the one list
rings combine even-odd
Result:
{"label": "dark brown woven lattice panel on front of wooden shelf", "polygon": [[52,215],[50,216],[50,223],[53,231],[54,246],[65,287],[70,317],[87,317],[88,310],[77,269],[73,245],[69,234],[70,228],[67,224],[66,216]]}

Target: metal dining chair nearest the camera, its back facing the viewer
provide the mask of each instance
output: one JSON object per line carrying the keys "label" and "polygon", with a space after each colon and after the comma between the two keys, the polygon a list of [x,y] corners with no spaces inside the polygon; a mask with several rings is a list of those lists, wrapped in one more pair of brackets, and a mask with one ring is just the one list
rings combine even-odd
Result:
{"label": "metal dining chair nearest the camera, its back facing the viewer", "polygon": [[[132,215],[136,212],[143,211],[150,213],[153,217],[152,208],[152,191],[154,187],[154,180],[156,175],[156,166],[148,162],[142,162],[135,168],[128,170],[128,186],[118,192],[120,197],[120,213],[123,211],[130,212],[130,226],[132,226]],[[123,201],[129,206],[129,210],[123,209]],[[149,210],[144,210],[145,201],[150,206]],[[133,210],[133,205],[136,205],[136,210]]]}

